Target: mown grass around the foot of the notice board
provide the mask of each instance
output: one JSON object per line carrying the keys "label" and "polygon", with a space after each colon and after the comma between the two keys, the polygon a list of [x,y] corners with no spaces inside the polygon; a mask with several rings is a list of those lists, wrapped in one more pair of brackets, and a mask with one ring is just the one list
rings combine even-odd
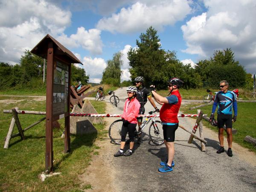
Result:
{"label": "mown grass around the foot of the notice board", "polygon": [[[8,96],[0,96],[0,100],[12,99]],[[45,101],[35,102],[27,97],[15,97],[15,100],[23,99],[16,103],[1,103],[0,112],[3,109],[19,107],[22,110],[45,111]],[[105,102],[92,102],[99,113],[105,112]],[[23,128],[41,119],[40,115],[19,115]],[[81,186],[78,176],[90,164],[91,155],[98,154],[100,148],[94,141],[106,133],[104,124],[95,125],[98,134],[84,136],[71,135],[71,151],[64,154],[64,140],[61,133],[64,127],[64,119],[59,120],[61,129],[53,129],[53,153],[54,172],[61,175],[47,178],[44,182],[38,179],[38,175],[45,170],[45,122],[35,125],[24,132],[26,140],[15,137],[10,141],[8,149],[3,149],[4,138],[7,135],[12,119],[11,114],[0,115],[0,191],[82,191],[91,189],[92,186]],[[15,125],[14,134],[17,133]]]}

